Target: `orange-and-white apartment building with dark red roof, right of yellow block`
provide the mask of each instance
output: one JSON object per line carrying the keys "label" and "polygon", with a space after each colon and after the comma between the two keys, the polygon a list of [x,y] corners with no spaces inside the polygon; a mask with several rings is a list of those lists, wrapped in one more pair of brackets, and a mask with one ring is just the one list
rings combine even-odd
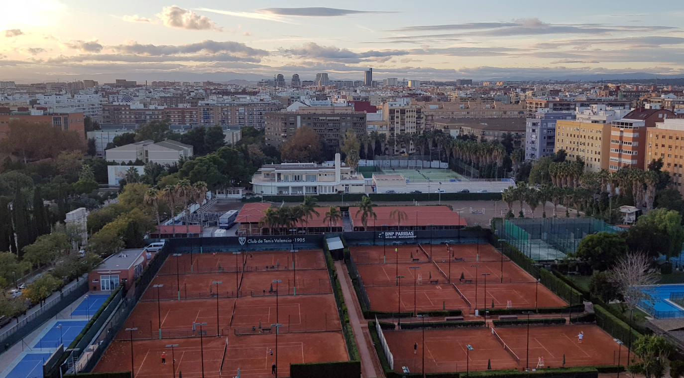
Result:
{"label": "orange-and-white apartment building with dark red roof, right of yellow block", "polygon": [[645,169],[648,166],[647,128],[655,127],[657,122],[674,117],[675,114],[670,110],[640,108],[629,112],[621,119],[611,121],[608,170],[616,172],[624,167]]}

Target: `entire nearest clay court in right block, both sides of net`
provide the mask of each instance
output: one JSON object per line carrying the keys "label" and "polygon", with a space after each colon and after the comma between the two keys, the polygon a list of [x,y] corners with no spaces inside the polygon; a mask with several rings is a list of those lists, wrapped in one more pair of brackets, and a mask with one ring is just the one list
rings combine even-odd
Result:
{"label": "entire nearest clay court in right block, both sides of net", "polygon": [[[540,357],[544,367],[595,366],[618,364],[618,344],[596,325],[557,325],[529,327],[529,364],[527,362],[527,328],[482,327],[477,329],[426,329],[425,373],[510,368],[537,368]],[[583,342],[577,334],[584,333]],[[384,331],[394,356],[394,370],[407,366],[411,373],[420,373],[423,364],[422,330]],[[414,344],[417,349],[414,352]],[[473,350],[467,352],[466,345]],[[506,347],[504,347],[504,344]],[[621,348],[620,364],[627,361],[627,349]],[[565,362],[565,364],[564,364]],[[541,366],[540,366],[541,368]]]}

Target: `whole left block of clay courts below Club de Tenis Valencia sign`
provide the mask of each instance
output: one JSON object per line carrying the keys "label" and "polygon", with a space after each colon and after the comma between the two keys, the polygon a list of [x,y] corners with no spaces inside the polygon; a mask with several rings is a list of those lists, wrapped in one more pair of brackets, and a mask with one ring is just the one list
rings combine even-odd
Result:
{"label": "whole left block of clay courts below Club de Tenis Valencia sign", "polygon": [[[122,327],[137,329],[120,331],[94,371],[130,369],[131,342],[135,377],[172,374],[172,353],[176,375],[202,377],[202,350],[205,377],[235,377],[238,368],[241,377],[270,377],[276,355],[282,376],[291,363],[348,360],[323,251],[295,253],[294,266],[291,256],[240,254],[237,270],[232,253],[168,257]],[[229,263],[231,272],[218,270]]]}

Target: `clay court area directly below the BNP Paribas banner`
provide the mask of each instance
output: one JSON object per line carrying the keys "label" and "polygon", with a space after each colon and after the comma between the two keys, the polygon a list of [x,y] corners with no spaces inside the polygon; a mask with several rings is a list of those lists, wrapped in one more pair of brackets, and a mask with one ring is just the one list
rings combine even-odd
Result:
{"label": "clay court area directly below the BNP Paribas banner", "polygon": [[[565,301],[490,244],[351,247],[370,310],[562,307]],[[432,257],[432,261],[430,261]],[[399,278],[397,278],[399,276]]]}

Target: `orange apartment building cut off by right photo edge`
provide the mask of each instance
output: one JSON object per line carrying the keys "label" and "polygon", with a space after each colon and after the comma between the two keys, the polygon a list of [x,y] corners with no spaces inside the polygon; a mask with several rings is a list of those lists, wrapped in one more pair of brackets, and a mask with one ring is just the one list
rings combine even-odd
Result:
{"label": "orange apartment building cut off by right photo edge", "polygon": [[663,159],[663,171],[668,171],[674,186],[684,194],[684,119],[666,118],[646,131],[646,160]]}

